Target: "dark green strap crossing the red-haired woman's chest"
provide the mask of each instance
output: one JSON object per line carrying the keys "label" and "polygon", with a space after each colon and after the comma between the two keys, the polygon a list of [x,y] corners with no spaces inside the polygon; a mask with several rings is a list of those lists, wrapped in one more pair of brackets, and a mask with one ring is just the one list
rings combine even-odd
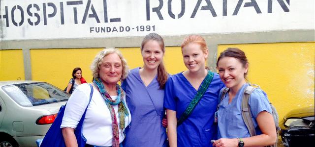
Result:
{"label": "dark green strap crossing the red-haired woman's chest", "polygon": [[195,109],[195,107],[199,103],[200,99],[202,98],[203,94],[206,93],[206,91],[207,91],[207,89],[208,89],[208,87],[209,87],[209,85],[213,79],[213,75],[214,75],[214,73],[212,73],[211,71],[208,71],[208,74],[205,77],[205,79],[203,80],[202,85],[199,87],[197,94],[190,101],[188,107],[186,108],[184,113],[181,115],[180,119],[177,121],[177,126],[181,125],[189,117],[189,115],[191,114],[193,109]]}

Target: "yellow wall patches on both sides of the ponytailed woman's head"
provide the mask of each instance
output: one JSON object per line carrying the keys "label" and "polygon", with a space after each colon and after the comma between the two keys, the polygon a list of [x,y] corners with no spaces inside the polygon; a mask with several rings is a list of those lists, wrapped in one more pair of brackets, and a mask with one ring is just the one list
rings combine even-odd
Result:
{"label": "yellow wall patches on both sides of the ponytailed woman's head", "polygon": [[[143,67],[143,60],[140,48],[120,48],[130,69]],[[187,70],[183,62],[181,47],[166,47],[164,55],[164,65],[170,74]]]}

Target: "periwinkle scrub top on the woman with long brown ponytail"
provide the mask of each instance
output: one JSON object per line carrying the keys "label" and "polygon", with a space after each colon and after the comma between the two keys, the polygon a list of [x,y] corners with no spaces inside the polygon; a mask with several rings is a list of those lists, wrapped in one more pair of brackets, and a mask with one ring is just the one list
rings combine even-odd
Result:
{"label": "periwinkle scrub top on the woman with long brown ponytail", "polygon": [[166,147],[164,90],[159,89],[157,78],[146,87],[139,74],[140,68],[130,71],[122,88],[132,120],[126,128],[124,147]]}

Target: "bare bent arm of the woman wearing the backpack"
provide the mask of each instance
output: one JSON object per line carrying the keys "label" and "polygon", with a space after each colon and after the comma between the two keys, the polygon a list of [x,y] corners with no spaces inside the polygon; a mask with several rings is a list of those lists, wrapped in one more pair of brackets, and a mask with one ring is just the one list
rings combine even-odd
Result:
{"label": "bare bent arm of the woman wearing the backpack", "polygon": [[[244,147],[252,146],[268,146],[276,143],[277,133],[276,126],[272,115],[267,111],[261,111],[257,116],[257,123],[262,132],[260,135],[242,138]],[[214,143],[215,147],[237,147],[237,138],[227,139],[221,138]]]}

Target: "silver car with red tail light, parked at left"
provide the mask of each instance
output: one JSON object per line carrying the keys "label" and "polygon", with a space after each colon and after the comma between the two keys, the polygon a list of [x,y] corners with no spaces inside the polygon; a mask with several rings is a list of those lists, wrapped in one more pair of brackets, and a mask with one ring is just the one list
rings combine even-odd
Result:
{"label": "silver car with red tail light, parked at left", "polygon": [[0,147],[36,147],[69,94],[39,81],[0,81]]}

